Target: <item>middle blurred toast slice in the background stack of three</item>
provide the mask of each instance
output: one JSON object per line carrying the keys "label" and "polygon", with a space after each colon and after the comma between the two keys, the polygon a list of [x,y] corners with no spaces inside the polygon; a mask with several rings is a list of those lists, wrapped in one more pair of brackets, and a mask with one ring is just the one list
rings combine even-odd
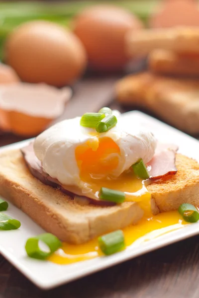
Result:
{"label": "middle blurred toast slice in the background stack of three", "polygon": [[183,56],[169,50],[156,49],[148,56],[149,70],[155,74],[199,75],[199,56]]}

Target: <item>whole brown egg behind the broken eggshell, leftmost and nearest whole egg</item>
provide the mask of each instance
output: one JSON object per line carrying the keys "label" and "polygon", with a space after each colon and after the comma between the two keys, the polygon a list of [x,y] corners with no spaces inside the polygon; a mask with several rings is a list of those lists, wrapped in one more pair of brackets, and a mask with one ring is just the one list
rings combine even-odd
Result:
{"label": "whole brown egg behind the broken eggshell, leftmost and nearest whole egg", "polygon": [[78,37],[47,21],[31,21],[16,28],[7,40],[5,60],[23,81],[54,86],[74,82],[87,63]]}

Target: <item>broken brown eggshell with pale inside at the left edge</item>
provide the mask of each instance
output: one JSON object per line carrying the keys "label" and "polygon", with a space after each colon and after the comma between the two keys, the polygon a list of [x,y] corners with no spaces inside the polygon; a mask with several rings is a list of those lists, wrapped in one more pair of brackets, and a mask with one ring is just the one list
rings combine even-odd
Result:
{"label": "broken brown eggshell with pale inside at the left edge", "polygon": [[0,130],[35,136],[64,112],[71,95],[70,87],[58,89],[43,83],[0,85]]}

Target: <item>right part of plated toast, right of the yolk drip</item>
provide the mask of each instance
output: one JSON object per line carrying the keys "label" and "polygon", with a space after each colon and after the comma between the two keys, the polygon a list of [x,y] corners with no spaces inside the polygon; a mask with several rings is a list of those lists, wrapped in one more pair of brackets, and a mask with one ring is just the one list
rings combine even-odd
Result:
{"label": "right part of plated toast, right of the yolk drip", "polygon": [[183,203],[199,206],[199,163],[176,154],[176,175],[147,186],[160,212],[177,210]]}

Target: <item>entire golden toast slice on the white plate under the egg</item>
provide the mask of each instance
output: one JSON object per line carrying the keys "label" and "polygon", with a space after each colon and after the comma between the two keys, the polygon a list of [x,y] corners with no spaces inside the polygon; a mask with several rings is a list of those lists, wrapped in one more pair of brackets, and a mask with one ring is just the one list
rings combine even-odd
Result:
{"label": "entire golden toast slice on the white plate under the egg", "polygon": [[[199,205],[199,163],[176,154],[176,165],[176,175],[147,186],[153,213],[177,210],[182,203]],[[143,216],[137,203],[124,202],[112,207],[79,205],[34,178],[19,149],[0,153],[0,195],[46,231],[75,244],[136,224]]]}

